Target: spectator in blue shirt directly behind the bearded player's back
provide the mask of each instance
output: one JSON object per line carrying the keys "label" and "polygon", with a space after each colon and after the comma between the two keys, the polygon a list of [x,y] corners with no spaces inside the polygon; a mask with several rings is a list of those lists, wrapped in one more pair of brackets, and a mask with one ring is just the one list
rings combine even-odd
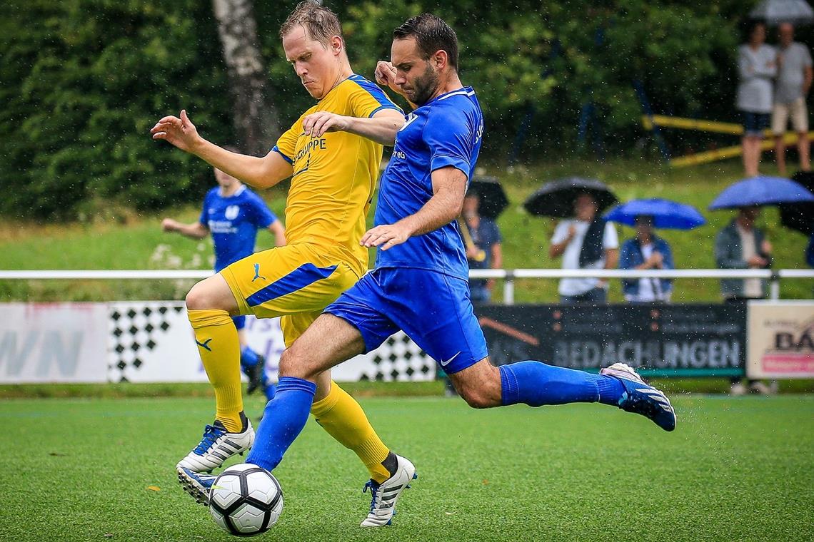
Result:
{"label": "spectator in blue shirt directly behind the bearded player's back", "polygon": [[[462,208],[462,217],[470,241],[466,242],[466,261],[470,269],[500,269],[503,267],[501,232],[494,220],[480,216],[479,206],[479,194],[474,190],[467,192]],[[475,305],[488,303],[492,298],[494,286],[494,279],[470,279],[472,303]]]}

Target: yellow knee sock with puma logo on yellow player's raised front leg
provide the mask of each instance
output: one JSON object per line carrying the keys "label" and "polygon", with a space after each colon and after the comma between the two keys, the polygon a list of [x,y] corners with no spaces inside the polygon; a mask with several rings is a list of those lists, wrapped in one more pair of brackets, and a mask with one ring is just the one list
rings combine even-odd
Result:
{"label": "yellow knee sock with puma logo on yellow player's raised front leg", "polygon": [[225,310],[187,311],[195,330],[195,342],[212,388],[215,388],[215,419],[226,431],[243,430],[240,413],[240,341],[238,330]]}

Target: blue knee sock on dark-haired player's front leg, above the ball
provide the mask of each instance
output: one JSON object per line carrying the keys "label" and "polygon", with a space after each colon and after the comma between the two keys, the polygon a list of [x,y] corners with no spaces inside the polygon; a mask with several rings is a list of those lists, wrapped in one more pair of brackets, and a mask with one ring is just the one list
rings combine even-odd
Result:
{"label": "blue knee sock on dark-haired player's front leg, above the ball", "polygon": [[291,376],[280,379],[277,394],[265,405],[247,463],[265,470],[274,470],[278,466],[282,454],[305,427],[315,392],[317,384],[308,380]]}

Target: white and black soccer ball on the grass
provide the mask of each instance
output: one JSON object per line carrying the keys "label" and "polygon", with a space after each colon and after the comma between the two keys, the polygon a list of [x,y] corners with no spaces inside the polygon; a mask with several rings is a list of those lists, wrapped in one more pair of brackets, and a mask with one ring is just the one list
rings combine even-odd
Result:
{"label": "white and black soccer ball on the grass", "polygon": [[232,535],[259,535],[268,531],[282,513],[280,483],[259,466],[230,466],[212,485],[209,512],[218,527]]}

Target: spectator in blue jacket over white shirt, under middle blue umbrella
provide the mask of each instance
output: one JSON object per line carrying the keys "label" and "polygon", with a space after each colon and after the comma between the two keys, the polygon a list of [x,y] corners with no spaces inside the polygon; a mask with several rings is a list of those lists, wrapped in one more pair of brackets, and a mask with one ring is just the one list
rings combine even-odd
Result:
{"label": "spectator in blue jacket over white shirt, under middle blue umbrella", "polygon": [[[653,231],[653,217],[636,217],[636,236],[622,244],[619,269],[674,269],[672,250],[667,241]],[[622,292],[632,303],[669,302],[672,294],[670,279],[624,279]]]}

